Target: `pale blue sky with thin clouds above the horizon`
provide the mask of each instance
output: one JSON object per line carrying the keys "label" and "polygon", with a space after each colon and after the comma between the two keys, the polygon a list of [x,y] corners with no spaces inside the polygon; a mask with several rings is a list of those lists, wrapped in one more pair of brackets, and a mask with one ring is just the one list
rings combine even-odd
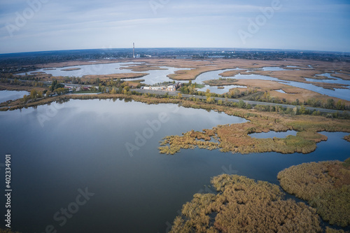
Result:
{"label": "pale blue sky with thin clouds above the horizon", "polygon": [[350,52],[349,0],[0,0],[0,53],[93,48]]}

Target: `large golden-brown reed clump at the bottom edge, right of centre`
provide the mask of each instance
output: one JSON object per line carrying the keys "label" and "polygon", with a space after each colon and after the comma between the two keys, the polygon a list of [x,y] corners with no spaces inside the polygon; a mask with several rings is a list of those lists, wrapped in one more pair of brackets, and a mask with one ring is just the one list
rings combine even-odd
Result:
{"label": "large golden-brown reed clump at the bottom edge, right of centre", "polygon": [[195,194],[170,232],[321,232],[316,211],[283,200],[277,185],[226,174],[211,183],[218,194]]}

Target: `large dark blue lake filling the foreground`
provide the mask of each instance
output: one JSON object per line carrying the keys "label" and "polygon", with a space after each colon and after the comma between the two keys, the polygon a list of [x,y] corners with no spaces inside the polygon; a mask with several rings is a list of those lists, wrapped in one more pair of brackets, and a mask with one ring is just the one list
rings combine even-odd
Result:
{"label": "large dark blue lake filling the foreground", "polygon": [[204,185],[213,176],[239,174],[278,184],[282,169],[345,160],[350,149],[342,139],[346,134],[324,133],[328,141],[307,155],[202,149],[161,155],[164,136],[246,122],[176,104],[71,100],[0,112],[0,118],[0,162],[12,155],[12,224],[20,232],[45,232],[50,225],[66,233],[167,232],[183,204],[196,192],[210,191]]}

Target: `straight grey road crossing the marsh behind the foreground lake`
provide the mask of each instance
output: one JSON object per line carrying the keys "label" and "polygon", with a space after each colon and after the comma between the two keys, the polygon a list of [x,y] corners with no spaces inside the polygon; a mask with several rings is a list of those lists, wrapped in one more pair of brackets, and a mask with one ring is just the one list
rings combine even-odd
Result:
{"label": "straight grey road crossing the marsh behind the foreground lake", "polygon": [[[136,91],[139,93],[150,93],[150,94],[165,94],[169,93],[169,96],[177,96],[180,92],[169,92],[169,91],[161,91],[161,90],[144,90],[144,89],[132,89],[132,91]],[[203,97],[201,95],[193,95],[193,94],[182,94],[182,97],[185,98],[190,98],[190,97],[196,97],[198,99],[207,99],[207,97]],[[221,97],[215,97],[216,100],[221,99],[222,101],[230,101],[230,102],[239,102],[241,99],[225,99]],[[252,106],[255,105],[265,105],[265,106],[282,106],[283,108],[295,108],[295,105],[290,105],[290,104],[274,104],[274,103],[267,103],[267,102],[260,102],[260,101],[251,101],[251,100],[244,100],[244,103],[246,104],[251,104]],[[299,106],[300,107],[300,106]],[[305,106],[306,109],[309,111],[320,111],[322,113],[342,113],[343,111],[338,111],[334,109],[326,109],[326,108],[314,108],[314,107],[307,107]],[[346,113],[349,113],[349,111],[345,111]]]}

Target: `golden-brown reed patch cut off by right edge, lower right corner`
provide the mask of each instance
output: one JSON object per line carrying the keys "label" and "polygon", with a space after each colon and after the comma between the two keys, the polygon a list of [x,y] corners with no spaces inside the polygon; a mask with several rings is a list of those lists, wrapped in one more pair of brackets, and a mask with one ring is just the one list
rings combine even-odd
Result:
{"label": "golden-brown reed patch cut off by right edge, lower right corner", "polygon": [[289,167],[277,178],[286,192],[309,202],[330,224],[350,224],[350,158]]}

